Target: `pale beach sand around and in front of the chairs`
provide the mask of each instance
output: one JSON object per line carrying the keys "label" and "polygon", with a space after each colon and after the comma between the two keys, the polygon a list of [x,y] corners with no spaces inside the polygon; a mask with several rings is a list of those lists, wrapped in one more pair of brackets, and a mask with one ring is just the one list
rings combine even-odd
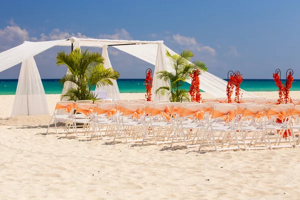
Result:
{"label": "pale beach sand around and in front of the chairs", "polygon": [[[52,113],[59,95],[46,96]],[[8,119],[12,104],[0,96],[0,199],[300,199],[300,148],[199,153],[183,143],[77,141],[44,134],[49,116]]]}

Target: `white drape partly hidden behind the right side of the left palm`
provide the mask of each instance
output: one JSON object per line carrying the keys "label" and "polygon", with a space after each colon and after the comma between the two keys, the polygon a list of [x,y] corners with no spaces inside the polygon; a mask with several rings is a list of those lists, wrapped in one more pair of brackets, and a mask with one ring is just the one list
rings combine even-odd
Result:
{"label": "white drape partly hidden behind the right side of the left palm", "polygon": [[[105,69],[112,68],[109,57],[108,57],[106,44],[103,45],[102,56],[104,58],[104,68]],[[96,87],[95,90],[105,90],[107,92],[107,98],[121,99],[116,80],[112,79],[111,81],[112,81],[113,85],[105,85],[105,86]]]}

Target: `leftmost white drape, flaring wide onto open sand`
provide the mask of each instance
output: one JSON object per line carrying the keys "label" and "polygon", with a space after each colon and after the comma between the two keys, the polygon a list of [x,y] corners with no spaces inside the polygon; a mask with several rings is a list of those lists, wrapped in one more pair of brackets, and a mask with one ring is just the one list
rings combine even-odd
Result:
{"label": "leftmost white drape, flaring wide onto open sand", "polygon": [[11,116],[49,114],[47,99],[33,57],[21,64]]}

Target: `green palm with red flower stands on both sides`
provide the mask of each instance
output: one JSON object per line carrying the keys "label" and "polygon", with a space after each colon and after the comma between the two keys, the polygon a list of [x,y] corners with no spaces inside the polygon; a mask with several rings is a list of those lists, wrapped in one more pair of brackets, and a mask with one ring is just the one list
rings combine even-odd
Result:
{"label": "green palm with red flower stands on both sides", "polygon": [[190,50],[184,50],[180,55],[171,55],[168,51],[165,54],[170,59],[173,70],[157,72],[157,78],[168,82],[169,85],[159,87],[155,93],[161,95],[167,93],[169,100],[172,102],[188,101],[188,91],[180,87],[186,79],[190,78],[193,70],[207,71],[207,67],[199,60],[190,62],[191,57],[193,57],[193,53]]}

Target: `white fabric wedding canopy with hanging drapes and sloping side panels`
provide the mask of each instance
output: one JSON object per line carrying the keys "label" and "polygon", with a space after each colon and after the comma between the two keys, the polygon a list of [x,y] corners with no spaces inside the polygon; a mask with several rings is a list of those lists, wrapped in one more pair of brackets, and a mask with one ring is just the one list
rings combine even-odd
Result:
{"label": "white fabric wedding canopy with hanging drapes and sloping side panels", "polygon": [[[175,52],[165,46],[163,41],[86,39],[75,37],[53,41],[25,41],[16,47],[0,53],[0,71],[22,62],[11,116],[48,114],[44,89],[33,56],[55,45],[72,46],[74,48],[80,46],[102,47],[105,68],[112,67],[107,52],[107,47],[111,46],[155,65],[153,74],[156,74],[160,70],[173,70],[168,58],[165,56],[165,51],[168,50],[171,54],[175,54]],[[223,79],[208,72],[201,73],[199,79],[200,89],[215,97],[226,96],[227,82]],[[190,83],[190,80],[187,82]],[[113,83],[112,86],[96,88],[96,90],[106,90],[109,98],[119,99],[120,95],[117,83],[116,81],[113,81]],[[153,100],[167,99],[167,96],[156,95],[154,92],[158,87],[167,84],[153,75]],[[73,86],[71,82],[66,82],[62,93],[65,93],[69,87]],[[243,97],[255,97],[255,95],[244,90],[242,92]]]}

